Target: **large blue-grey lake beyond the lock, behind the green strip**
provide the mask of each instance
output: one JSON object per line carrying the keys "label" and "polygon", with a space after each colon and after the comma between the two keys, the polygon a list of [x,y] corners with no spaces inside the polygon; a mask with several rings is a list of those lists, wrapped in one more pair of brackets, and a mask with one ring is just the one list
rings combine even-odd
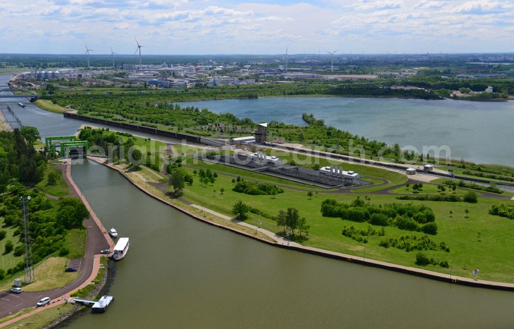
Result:
{"label": "large blue-grey lake beyond the lock, behind the green strip", "polygon": [[[305,125],[303,112],[313,113],[327,125],[370,140],[414,146],[418,153],[423,151],[423,146],[447,145],[453,159],[514,165],[511,143],[514,101],[289,97],[180,105],[208,108],[216,113],[231,112],[254,122],[278,120],[295,125]],[[440,154],[446,158],[445,152]]]}

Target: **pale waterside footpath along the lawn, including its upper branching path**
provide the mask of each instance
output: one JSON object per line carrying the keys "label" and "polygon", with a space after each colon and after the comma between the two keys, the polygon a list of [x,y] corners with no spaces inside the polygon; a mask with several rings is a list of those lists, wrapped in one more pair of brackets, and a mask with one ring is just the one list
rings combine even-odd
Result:
{"label": "pale waterside footpath along the lawn, including its upper branching path", "polygon": [[[148,196],[150,196],[150,197],[152,197],[152,198],[154,198],[154,199],[156,199],[156,200],[158,200],[158,201],[160,201],[162,203],[165,203],[165,204],[167,204],[169,206],[172,206],[175,209],[183,212],[184,214],[187,214],[187,215],[193,217],[194,219],[197,219],[199,221],[203,221],[203,222],[208,223],[210,225],[214,225],[214,226],[218,226],[218,227],[230,230],[230,231],[232,231],[234,233],[237,233],[237,234],[240,234],[240,235],[244,235],[246,237],[249,237],[249,238],[252,238],[252,239],[255,239],[255,240],[259,240],[259,241],[261,241],[263,243],[267,243],[269,245],[273,245],[273,246],[281,247],[281,248],[287,248],[287,249],[290,249],[290,250],[301,251],[303,253],[309,253],[309,254],[314,254],[314,255],[318,255],[318,256],[323,256],[323,257],[343,260],[343,261],[347,261],[347,262],[362,264],[362,265],[366,265],[366,266],[379,267],[379,268],[383,268],[383,269],[393,270],[395,272],[406,273],[406,274],[410,274],[410,275],[415,275],[415,276],[419,276],[419,277],[425,277],[425,278],[434,279],[434,280],[438,280],[438,281],[444,281],[444,282],[448,282],[448,283],[462,284],[462,285],[468,285],[468,286],[474,286],[474,287],[482,287],[482,288],[499,289],[499,290],[506,290],[506,291],[514,291],[514,283],[484,281],[484,280],[478,280],[478,279],[472,279],[472,278],[459,277],[459,276],[454,276],[454,275],[451,275],[451,274],[432,272],[430,270],[426,270],[426,269],[423,269],[423,268],[403,266],[403,265],[398,265],[398,264],[393,264],[393,263],[388,263],[388,262],[382,262],[382,261],[378,261],[378,260],[368,259],[368,258],[365,258],[365,255],[363,255],[363,257],[359,257],[359,256],[337,253],[335,251],[329,251],[329,250],[324,250],[324,249],[315,248],[315,247],[303,246],[301,244],[293,243],[291,241],[288,241],[287,239],[284,239],[284,238],[282,238],[280,236],[277,236],[276,234],[274,234],[274,233],[272,233],[270,231],[267,231],[267,230],[262,229],[262,228],[258,228],[258,230],[260,232],[262,232],[263,234],[267,235],[268,237],[271,237],[274,240],[277,240],[277,242],[271,242],[271,241],[265,240],[263,238],[260,238],[258,236],[255,236],[254,234],[249,233],[249,232],[252,232],[252,230],[249,230],[249,232],[246,231],[246,230],[242,231],[242,230],[237,230],[237,229],[232,228],[232,227],[227,227],[227,226],[223,226],[223,225],[220,225],[220,224],[213,223],[213,222],[211,222],[211,221],[209,221],[209,220],[207,220],[205,218],[202,218],[202,217],[199,217],[196,214],[193,214],[192,212],[188,211],[185,208],[179,207],[179,206],[177,206],[175,204],[172,204],[168,200],[165,200],[165,199],[163,199],[163,198],[161,198],[159,196],[156,196],[154,193],[152,193],[151,191],[149,191],[148,189],[146,189],[142,185],[136,183],[130,176],[127,175],[126,172],[123,171],[123,169],[118,168],[118,167],[114,166],[113,164],[107,163],[107,159],[105,159],[105,158],[88,157],[88,159],[93,160],[95,162],[98,162],[100,164],[103,164],[103,165],[105,165],[105,166],[107,166],[109,168],[112,168],[112,169],[118,171],[123,177],[125,177],[134,186],[139,188],[142,192],[146,193],[146,195],[148,195]],[[143,181],[146,182],[146,180],[144,180],[144,179],[143,179]],[[145,183],[145,185],[148,185],[148,184]],[[209,214],[212,214],[212,215],[217,216],[219,218],[225,219],[227,221],[231,221],[232,223],[238,223],[238,224],[242,225],[242,227],[244,226],[244,227],[250,227],[252,229],[255,229],[254,225],[251,225],[249,223],[244,223],[244,222],[236,221],[235,219],[233,219],[233,218],[231,218],[229,216],[223,215],[223,214],[219,214],[218,212],[216,212],[214,210],[211,210],[211,209],[208,209],[208,208],[205,208],[205,207],[202,207],[202,206],[198,206],[198,205],[191,205],[191,206],[193,206],[193,207],[195,207],[197,209],[202,209],[203,211],[209,212]]]}

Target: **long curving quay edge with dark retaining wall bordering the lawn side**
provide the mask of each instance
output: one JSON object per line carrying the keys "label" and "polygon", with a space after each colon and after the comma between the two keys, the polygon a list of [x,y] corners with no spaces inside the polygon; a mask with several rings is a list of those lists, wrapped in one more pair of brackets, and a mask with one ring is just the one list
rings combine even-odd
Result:
{"label": "long curving quay edge with dark retaining wall bordering the lawn side", "polygon": [[[302,253],[313,254],[313,255],[317,255],[317,256],[357,263],[357,264],[366,265],[366,266],[372,266],[372,267],[378,267],[378,268],[387,269],[387,270],[393,270],[394,272],[415,275],[418,277],[424,277],[424,278],[437,280],[437,281],[443,281],[443,282],[447,282],[447,283],[455,283],[455,284],[462,284],[462,285],[467,285],[467,286],[472,286],[472,287],[482,287],[482,288],[497,289],[497,290],[504,290],[504,291],[514,291],[514,283],[474,280],[471,278],[458,277],[458,276],[433,272],[430,270],[416,268],[416,267],[403,266],[403,265],[398,265],[398,264],[393,264],[393,263],[388,263],[388,262],[383,262],[383,261],[378,261],[378,260],[366,259],[364,257],[358,257],[358,256],[353,256],[353,255],[337,253],[335,251],[329,251],[329,250],[324,250],[324,249],[320,249],[320,248],[302,246],[302,245],[299,245],[296,243],[295,243],[296,245],[285,245],[285,244],[281,244],[278,242],[270,242],[268,240],[265,240],[260,237],[249,234],[246,231],[241,231],[241,230],[237,230],[237,229],[227,227],[227,226],[224,226],[221,224],[213,223],[205,218],[201,218],[201,217],[193,214],[192,212],[188,211],[187,209],[184,209],[178,205],[172,204],[171,202],[169,202],[165,199],[162,199],[159,196],[154,195],[148,189],[146,189],[143,186],[134,182],[121,169],[115,167],[112,164],[107,164],[107,163],[105,163],[105,161],[100,161],[100,159],[105,160],[104,158],[88,157],[87,159],[118,171],[118,173],[120,173],[120,175],[122,175],[125,179],[127,179],[130,183],[132,183],[135,187],[137,187],[139,190],[141,190],[146,195],[179,210],[183,214],[186,214],[186,215],[192,217],[193,219],[202,221],[209,225],[221,227],[223,229],[232,231],[233,233],[236,233],[236,234],[239,234],[242,236],[246,236],[246,237],[252,238],[254,240],[266,243],[270,246],[300,251]],[[211,214],[212,214],[212,212],[211,212]]]}

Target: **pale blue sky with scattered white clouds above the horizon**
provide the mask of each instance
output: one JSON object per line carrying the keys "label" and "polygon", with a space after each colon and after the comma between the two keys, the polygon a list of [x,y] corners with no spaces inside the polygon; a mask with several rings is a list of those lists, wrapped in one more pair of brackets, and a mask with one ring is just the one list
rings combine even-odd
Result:
{"label": "pale blue sky with scattered white clouds above the horizon", "polygon": [[0,0],[0,53],[514,51],[514,0]]}

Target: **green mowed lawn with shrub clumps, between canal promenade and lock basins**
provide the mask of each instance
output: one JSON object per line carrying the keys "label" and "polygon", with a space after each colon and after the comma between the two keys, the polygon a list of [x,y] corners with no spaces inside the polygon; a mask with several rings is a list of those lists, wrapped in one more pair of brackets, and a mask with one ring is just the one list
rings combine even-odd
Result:
{"label": "green mowed lawn with shrub clumps, between canal promenade and lock basins", "polygon": [[[188,160],[190,163],[191,160]],[[354,225],[359,228],[367,228],[368,223],[356,223],[352,221],[342,220],[339,218],[325,218],[321,216],[321,202],[327,198],[336,199],[339,202],[352,202],[357,195],[334,193],[323,189],[310,188],[307,185],[288,182],[286,180],[276,179],[269,176],[260,175],[259,173],[249,172],[242,169],[222,165],[212,165],[199,162],[190,167],[182,166],[187,172],[192,174],[193,168],[210,168],[218,174],[214,185],[202,186],[199,183],[198,176],[194,176],[193,185],[186,184],[184,198],[207,208],[221,212],[225,215],[231,215],[231,209],[237,201],[265,211],[270,215],[277,215],[280,209],[295,207],[300,210],[300,216],[307,219],[310,225],[308,240],[303,242],[304,245],[319,247],[327,250],[339,251],[345,254],[362,256],[364,245],[358,243],[351,238],[341,235],[343,226]],[[285,188],[284,193],[273,196],[249,196],[244,193],[232,191],[234,177],[240,176],[246,180],[264,181]],[[225,191],[223,195],[221,188]],[[405,189],[405,187],[402,187]],[[400,188],[401,189],[401,188]],[[436,193],[436,185],[424,184],[424,191]],[[215,192],[214,192],[215,190]],[[314,196],[310,199],[307,191],[313,191]],[[364,198],[360,195],[360,198]],[[514,282],[514,244],[511,243],[511,237],[514,236],[514,221],[491,216],[488,210],[491,205],[496,203],[511,203],[510,200],[498,200],[479,197],[479,202],[470,204],[465,202],[429,202],[429,201],[405,201],[396,200],[394,195],[391,196],[370,196],[369,201],[372,204],[384,203],[413,203],[423,204],[431,207],[436,215],[436,224],[438,225],[438,234],[429,236],[436,244],[445,242],[450,246],[450,253],[445,251],[424,251],[429,257],[441,261],[448,261],[452,264],[452,272],[454,275],[463,277],[473,277],[471,270],[473,268],[480,269],[480,279]],[[469,216],[466,218],[465,209],[469,210]],[[453,215],[450,217],[450,210]],[[254,224],[258,219],[262,220],[262,227],[272,231],[279,232],[281,227],[270,219],[263,218],[249,213],[248,223]],[[374,226],[380,229],[380,226]],[[480,231],[480,239],[478,238]],[[401,265],[414,266],[415,254],[417,251],[407,252],[402,249],[393,247],[384,248],[378,244],[386,238],[399,238],[400,236],[415,235],[423,236],[423,233],[400,230],[395,227],[386,227],[386,236],[369,237],[369,242],[365,244],[366,257],[376,260],[392,262]],[[480,240],[480,241],[479,241]],[[435,270],[436,272],[448,273],[448,268],[440,266],[421,266]]]}

